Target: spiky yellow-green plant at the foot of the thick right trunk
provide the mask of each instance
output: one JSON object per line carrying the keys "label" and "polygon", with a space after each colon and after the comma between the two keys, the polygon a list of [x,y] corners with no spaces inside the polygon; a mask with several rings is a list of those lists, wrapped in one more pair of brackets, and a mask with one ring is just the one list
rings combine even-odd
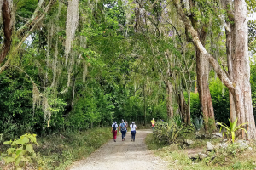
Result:
{"label": "spiky yellow-green plant at the foot of the thick right trunk", "polygon": [[[230,121],[230,119],[229,119],[229,121]],[[231,122],[231,121],[230,121],[230,127],[228,127],[226,124],[221,123],[221,122],[217,122],[217,123],[218,123],[218,125],[221,126],[220,129],[219,129],[219,132],[221,132],[222,127],[224,127],[224,128],[227,130],[227,131],[224,132],[224,133],[226,133],[227,136],[230,136],[230,139],[232,139],[232,143],[235,142],[235,139],[236,139],[236,131],[237,131],[237,130],[244,130],[245,133],[247,133],[247,130],[246,130],[245,128],[242,128],[242,126],[244,126],[244,125],[246,125],[246,124],[248,124],[248,123],[246,122],[246,123],[242,123],[241,125],[236,126],[237,118],[236,118],[235,122]],[[247,135],[248,135],[248,134],[247,134]]]}

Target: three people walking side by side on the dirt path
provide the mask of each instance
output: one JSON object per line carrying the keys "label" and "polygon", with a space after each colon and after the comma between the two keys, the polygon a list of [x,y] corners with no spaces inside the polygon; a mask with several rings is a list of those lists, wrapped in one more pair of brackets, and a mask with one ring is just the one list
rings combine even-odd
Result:
{"label": "three people walking side by side on the dirt path", "polygon": [[[125,122],[124,120],[122,120],[122,122],[119,124],[119,133],[122,133],[122,141],[125,141],[127,128],[128,128],[127,124],[128,123]],[[130,128],[131,128],[131,142],[134,142],[136,128],[137,128],[135,122],[131,122]],[[117,130],[118,130],[118,124],[117,124],[117,122],[113,122],[112,127],[111,127],[111,132],[113,133],[113,141],[114,142],[116,142]]]}

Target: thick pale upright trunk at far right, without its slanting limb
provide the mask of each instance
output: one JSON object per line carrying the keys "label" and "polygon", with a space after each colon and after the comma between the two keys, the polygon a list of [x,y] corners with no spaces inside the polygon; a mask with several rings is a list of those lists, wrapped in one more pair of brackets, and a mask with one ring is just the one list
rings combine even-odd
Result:
{"label": "thick pale upright trunk at far right, without its slanting limb", "polygon": [[[250,84],[250,61],[248,56],[247,34],[247,3],[244,0],[235,0],[235,29],[233,48],[233,71],[235,88],[235,106],[238,124],[248,122],[246,126],[248,139],[255,139],[255,122]],[[245,139],[245,132],[240,131],[239,137]]]}

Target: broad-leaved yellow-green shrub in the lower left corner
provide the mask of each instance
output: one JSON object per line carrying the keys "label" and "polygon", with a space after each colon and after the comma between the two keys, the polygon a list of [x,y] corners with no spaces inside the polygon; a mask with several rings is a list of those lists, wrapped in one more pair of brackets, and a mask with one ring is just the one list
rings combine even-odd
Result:
{"label": "broad-leaved yellow-green shrub in the lower left corner", "polygon": [[6,151],[7,154],[3,154],[3,160],[5,163],[11,163],[16,168],[25,167],[26,163],[36,161],[37,155],[33,150],[32,144],[37,144],[36,134],[26,133],[20,136],[20,139],[14,141],[6,141],[3,144],[10,144],[11,147]]}

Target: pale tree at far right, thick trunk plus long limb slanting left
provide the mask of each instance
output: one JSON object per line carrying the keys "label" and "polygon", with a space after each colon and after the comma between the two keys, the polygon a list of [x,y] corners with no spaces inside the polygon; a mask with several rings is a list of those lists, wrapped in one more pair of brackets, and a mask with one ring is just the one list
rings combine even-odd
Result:
{"label": "pale tree at far right, thick trunk plus long limb slanting left", "polygon": [[238,122],[240,124],[248,122],[248,125],[246,126],[248,136],[246,137],[244,132],[240,132],[239,137],[241,139],[255,139],[256,131],[252,107],[251,86],[249,82],[250,66],[247,48],[247,3],[244,0],[234,1],[235,41],[232,42],[234,44],[232,45],[232,48],[235,50],[235,53],[232,56],[234,59],[234,82],[230,81],[230,78],[221,69],[218,61],[207,52],[207,49],[201,43],[198,32],[195,31],[190,20],[184,14],[180,1],[174,0],[173,3],[177,8],[177,13],[180,15],[181,20],[183,20],[183,24],[192,36],[195,47],[201,51],[201,54],[207,57],[206,59],[210,61],[219,79],[224,82],[225,86],[229,88],[230,92],[233,94]]}

